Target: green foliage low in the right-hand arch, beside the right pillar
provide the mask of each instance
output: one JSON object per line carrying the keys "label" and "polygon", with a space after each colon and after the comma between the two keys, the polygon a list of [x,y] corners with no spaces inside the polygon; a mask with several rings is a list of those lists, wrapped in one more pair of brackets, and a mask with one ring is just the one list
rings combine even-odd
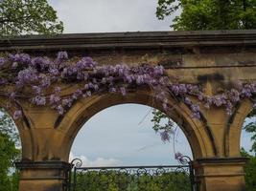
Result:
{"label": "green foliage low in the right-hand arch, beside the right pillar", "polygon": [[241,149],[241,155],[249,158],[244,167],[246,190],[256,191],[256,157],[249,155],[244,148]]}

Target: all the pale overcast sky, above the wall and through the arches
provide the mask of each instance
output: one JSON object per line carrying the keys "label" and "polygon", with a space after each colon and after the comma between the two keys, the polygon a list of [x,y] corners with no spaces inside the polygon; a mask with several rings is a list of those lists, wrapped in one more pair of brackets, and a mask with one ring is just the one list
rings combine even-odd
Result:
{"label": "all the pale overcast sky, above the wall and through the arches", "polygon": [[[63,21],[65,33],[171,30],[172,18],[159,21],[155,17],[157,0],[51,0],[50,3]],[[81,128],[70,159],[79,157],[86,166],[175,163],[174,143],[163,143],[154,133],[149,111],[151,108],[147,106],[126,104],[95,115]],[[243,134],[243,146],[248,149],[250,144],[248,135]],[[191,156],[181,131],[175,147],[176,151]]]}

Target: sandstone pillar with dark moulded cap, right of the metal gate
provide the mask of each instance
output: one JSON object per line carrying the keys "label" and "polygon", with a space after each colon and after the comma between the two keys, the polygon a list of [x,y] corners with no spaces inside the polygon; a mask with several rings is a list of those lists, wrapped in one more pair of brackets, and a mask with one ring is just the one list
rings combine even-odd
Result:
{"label": "sandstone pillar with dark moulded cap, right of the metal gate", "polygon": [[244,191],[246,158],[208,158],[195,161],[199,191]]}

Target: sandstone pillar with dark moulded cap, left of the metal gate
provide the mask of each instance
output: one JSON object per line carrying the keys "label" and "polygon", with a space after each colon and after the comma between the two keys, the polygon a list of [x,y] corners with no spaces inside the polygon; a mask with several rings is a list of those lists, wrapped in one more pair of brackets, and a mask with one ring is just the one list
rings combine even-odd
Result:
{"label": "sandstone pillar with dark moulded cap, left of the metal gate", "polygon": [[19,191],[64,191],[70,164],[63,161],[19,161]]}

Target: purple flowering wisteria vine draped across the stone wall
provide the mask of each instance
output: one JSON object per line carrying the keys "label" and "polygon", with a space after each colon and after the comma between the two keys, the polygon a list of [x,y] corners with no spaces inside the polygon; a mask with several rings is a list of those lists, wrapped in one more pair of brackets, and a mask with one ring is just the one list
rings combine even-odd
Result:
{"label": "purple flowering wisteria vine draped across the stone wall", "polygon": [[[61,96],[59,82],[80,84],[80,88],[69,96]],[[37,106],[50,105],[59,115],[63,115],[81,97],[102,92],[126,96],[130,88],[137,86],[147,86],[154,90],[157,93],[155,97],[162,102],[165,111],[169,110],[168,97],[173,96],[183,101],[197,118],[200,117],[200,107],[192,101],[192,96],[197,97],[206,109],[224,107],[227,114],[231,115],[234,105],[256,94],[256,83],[251,82],[241,83],[219,95],[207,96],[203,94],[200,85],[172,81],[162,66],[150,64],[131,67],[126,64],[97,65],[91,57],[82,57],[76,61],[69,59],[66,52],[59,52],[54,59],[27,53],[0,57],[0,95],[8,96],[12,106],[17,108],[13,113],[14,119],[23,115],[18,104],[20,98],[28,98]],[[30,96],[24,94],[25,88],[31,90]],[[54,91],[49,94],[50,89]],[[159,129],[159,133],[163,139],[169,138],[169,130]]]}

